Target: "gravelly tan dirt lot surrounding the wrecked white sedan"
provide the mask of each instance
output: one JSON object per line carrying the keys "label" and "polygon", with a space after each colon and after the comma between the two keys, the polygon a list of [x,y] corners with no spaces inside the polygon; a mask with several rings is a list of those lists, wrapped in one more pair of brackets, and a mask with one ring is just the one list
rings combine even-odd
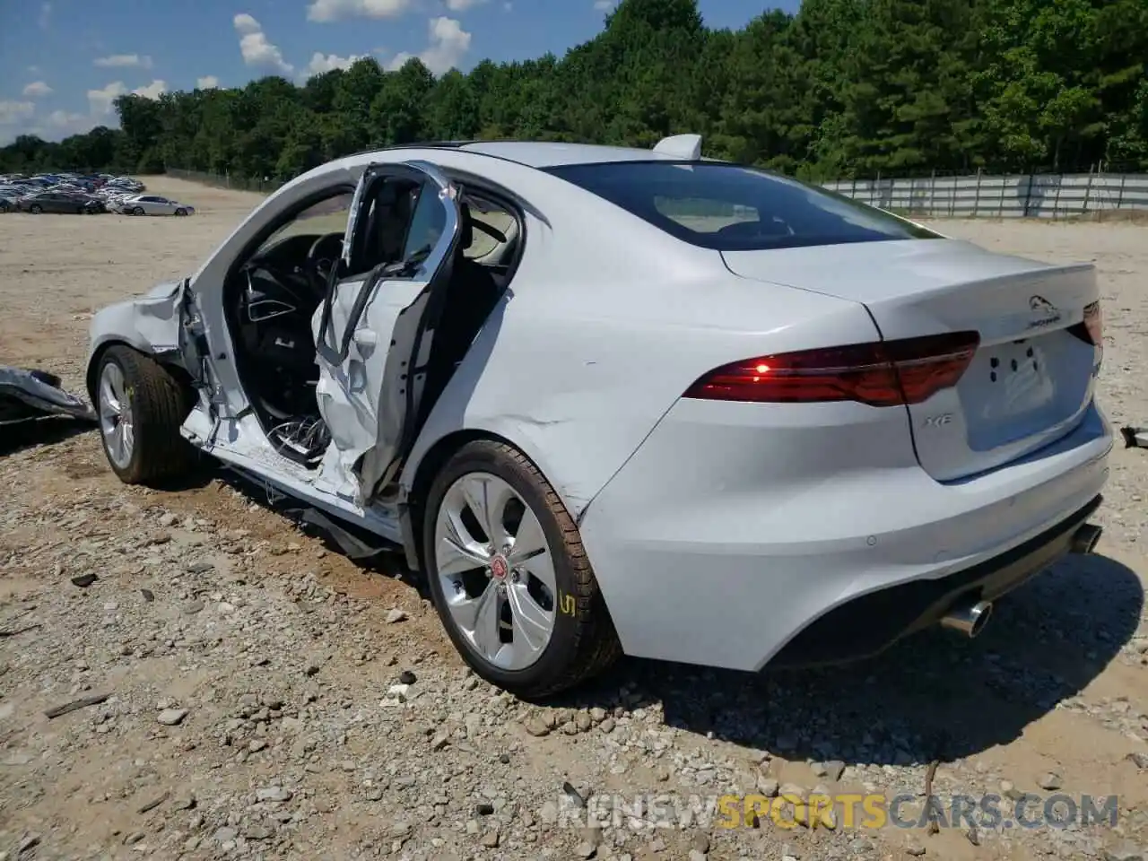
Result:
{"label": "gravelly tan dirt lot surrounding the wrecked white sedan", "polygon": [[[257,201],[149,186],[197,214],[0,217],[0,363],[82,390],[91,312],[189,271]],[[1148,230],[940,230],[1095,261],[1103,404],[1118,425],[1148,424]],[[1148,852],[1148,452],[1114,452],[1103,554],[1025,587],[972,643],[930,631],[859,667],[763,678],[629,661],[538,708],[467,675],[397,566],[356,567],[257,494],[210,475],[178,492],[125,487],[94,432],[0,447],[0,859]],[[73,584],[84,574],[98,579]],[[388,623],[396,607],[405,618]],[[45,715],[94,695],[108,697]],[[690,807],[781,783],[908,794],[908,821],[934,760],[936,792],[999,796],[1006,820],[1015,796],[1037,793],[1024,810],[1038,827],[930,836],[850,828],[841,812],[832,830],[768,816],[729,830]],[[1115,793],[1118,824],[1035,822],[1056,793]],[[633,820],[653,796],[667,798]]]}

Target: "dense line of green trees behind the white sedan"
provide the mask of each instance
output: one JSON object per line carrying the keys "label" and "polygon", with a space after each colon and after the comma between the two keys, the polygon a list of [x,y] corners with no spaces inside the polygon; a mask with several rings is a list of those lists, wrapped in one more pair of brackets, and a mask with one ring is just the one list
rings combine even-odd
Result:
{"label": "dense line of green trees behind the white sedan", "polygon": [[696,0],[622,0],[563,57],[483,60],[435,78],[418,59],[359,60],[296,86],[116,101],[119,129],[17,138],[0,172],[160,172],[286,180],[419,140],[651,147],[806,179],[932,171],[1148,171],[1148,0],[804,0],[740,30]]}

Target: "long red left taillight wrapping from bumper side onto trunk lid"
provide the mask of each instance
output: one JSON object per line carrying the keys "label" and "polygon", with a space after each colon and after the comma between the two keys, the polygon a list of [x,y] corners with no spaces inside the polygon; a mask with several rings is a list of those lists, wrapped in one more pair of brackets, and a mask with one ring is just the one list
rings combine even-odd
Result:
{"label": "long red left taillight wrapping from bumper side onto trunk lid", "polygon": [[977,332],[783,352],[711,371],[683,397],[757,403],[859,401],[918,404],[955,386],[980,343]]}

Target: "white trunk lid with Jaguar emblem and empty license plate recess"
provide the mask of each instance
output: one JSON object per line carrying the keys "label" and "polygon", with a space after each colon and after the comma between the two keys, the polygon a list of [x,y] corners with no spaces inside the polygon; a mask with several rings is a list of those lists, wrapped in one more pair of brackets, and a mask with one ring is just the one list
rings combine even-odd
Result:
{"label": "white trunk lid with Jaguar emblem and empty license plate recess", "polygon": [[1097,298],[1092,264],[1050,265],[948,239],[723,251],[738,276],[860,302],[885,340],[976,329],[960,382],[907,408],[938,481],[1054,442],[1092,402],[1100,349],[1072,329]]}

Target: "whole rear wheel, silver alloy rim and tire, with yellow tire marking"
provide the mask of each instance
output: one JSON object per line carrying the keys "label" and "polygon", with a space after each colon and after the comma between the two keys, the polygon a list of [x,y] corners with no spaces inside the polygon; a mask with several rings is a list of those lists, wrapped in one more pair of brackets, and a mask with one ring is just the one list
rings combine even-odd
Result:
{"label": "whole rear wheel, silver alloy rim and tire, with yellow tire marking", "polygon": [[424,510],[424,564],[455,647],[525,699],[574,687],[621,653],[577,527],[517,449],[463,447]]}

